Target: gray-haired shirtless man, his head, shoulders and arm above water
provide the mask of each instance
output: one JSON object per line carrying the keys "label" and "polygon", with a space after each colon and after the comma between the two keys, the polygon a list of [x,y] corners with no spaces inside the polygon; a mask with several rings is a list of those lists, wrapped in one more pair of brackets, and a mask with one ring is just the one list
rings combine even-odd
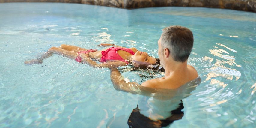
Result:
{"label": "gray-haired shirtless man, his head, shoulders and arm above water", "polygon": [[163,29],[158,40],[158,55],[165,76],[148,80],[141,85],[125,82],[117,69],[111,69],[111,80],[117,90],[135,93],[137,87],[151,89],[176,89],[196,79],[198,73],[194,67],[187,65],[187,59],[193,47],[192,32],[182,26],[169,26]]}

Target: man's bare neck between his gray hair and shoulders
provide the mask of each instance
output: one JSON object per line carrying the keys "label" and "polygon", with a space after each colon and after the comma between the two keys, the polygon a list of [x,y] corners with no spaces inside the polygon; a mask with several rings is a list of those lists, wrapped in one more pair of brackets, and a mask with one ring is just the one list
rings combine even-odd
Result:
{"label": "man's bare neck between his gray hair and shoulders", "polygon": [[186,72],[187,72],[187,61],[183,63],[168,61],[165,64],[165,78],[173,75],[184,74]]}

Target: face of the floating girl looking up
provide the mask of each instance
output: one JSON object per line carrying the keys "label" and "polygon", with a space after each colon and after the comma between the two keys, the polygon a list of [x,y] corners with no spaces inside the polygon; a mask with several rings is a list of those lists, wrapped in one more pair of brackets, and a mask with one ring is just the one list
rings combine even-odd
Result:
{"label": "face of the floating girl looking up", "polygon": [[144,62],[144,63],[149,63],[149,64],[155,64],[156,59],[148,56],[147,52],[141,52],[137,51],[135,52],[134,55],[132,55],[133,60],[138,61],[138,62]]}

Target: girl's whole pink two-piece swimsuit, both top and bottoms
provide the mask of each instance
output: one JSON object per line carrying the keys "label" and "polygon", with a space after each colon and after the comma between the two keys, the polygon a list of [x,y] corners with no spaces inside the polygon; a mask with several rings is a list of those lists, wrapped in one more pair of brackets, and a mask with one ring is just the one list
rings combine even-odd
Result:
{"label": "girl's whole pink two-piece swimsuit, both top and bottoms", "polygon": [[[129,48],[120,48],[120,47],[112,47],[112,48],[109,48],[107,49],[106,51],[101,51],[101,54],[102,54],[102,57],[100,59],[100,62],[106,62],[106,60],[118,60],[118,61],[123,61],[125,62],[126,64],[129,64],[126,60],[124,60],[120,55],[118,55],[117,51],[118,50],[123,50],[125,52],[128,52],[132,55],[134,55],[135,53],[129,49]],[[77,62],[82,62],[82,58],[79,56],[80,53],[89,53],[89,52],[95,52],[97,51],[96,49],[90,49],[90,50],[87,50],[87,51],[81,51],[81,52],[77,52],[78,53],[78,56],[76,57],[76,61]]]}

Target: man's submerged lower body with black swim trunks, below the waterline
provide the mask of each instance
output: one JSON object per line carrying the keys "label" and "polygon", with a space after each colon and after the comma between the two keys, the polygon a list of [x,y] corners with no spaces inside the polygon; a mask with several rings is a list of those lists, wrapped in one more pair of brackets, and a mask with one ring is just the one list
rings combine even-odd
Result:
{"label": "man's submerged lower body with black swim trunks, below the waterline", "polygon": [[201,83],[201,78],[177,89],[152,89],[132,86],[133,94],[139,94],[137,107],[130,110],[130,115],[113,115],[106,124],[107,128],[160,128],[182,119],[184,107],[182,99],[192,94]]}

